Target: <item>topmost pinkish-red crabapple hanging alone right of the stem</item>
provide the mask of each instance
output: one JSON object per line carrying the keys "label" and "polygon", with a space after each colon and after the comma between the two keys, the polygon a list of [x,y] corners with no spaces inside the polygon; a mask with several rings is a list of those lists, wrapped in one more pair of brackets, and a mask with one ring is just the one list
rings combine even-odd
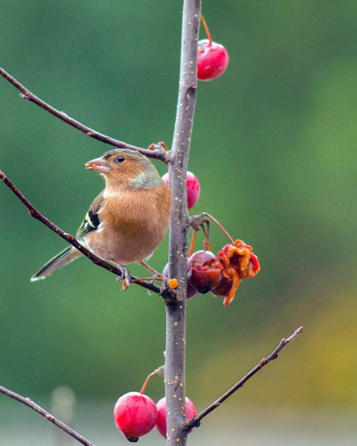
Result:
{"label": "topmost pinkish-red crabapple hanging alone right of the stem", "polygon": [[210,43],[208,39],[198,42],[197,79],[216,79],[226,71],[228,62],[228,52],[223,45]]}

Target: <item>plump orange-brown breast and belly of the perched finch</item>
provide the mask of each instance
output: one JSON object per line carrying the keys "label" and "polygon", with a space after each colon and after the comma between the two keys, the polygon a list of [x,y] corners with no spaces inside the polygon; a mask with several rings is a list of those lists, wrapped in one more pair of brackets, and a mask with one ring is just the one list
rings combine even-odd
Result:
{"label": "plump orange-brown breast and belly of the perched finch", "polygon": [[100,226],[86,236],[88,247],[102,259],[121,264],[141,262],[165,237],[171,218],[172,194],[162,185],[104,194]]}

